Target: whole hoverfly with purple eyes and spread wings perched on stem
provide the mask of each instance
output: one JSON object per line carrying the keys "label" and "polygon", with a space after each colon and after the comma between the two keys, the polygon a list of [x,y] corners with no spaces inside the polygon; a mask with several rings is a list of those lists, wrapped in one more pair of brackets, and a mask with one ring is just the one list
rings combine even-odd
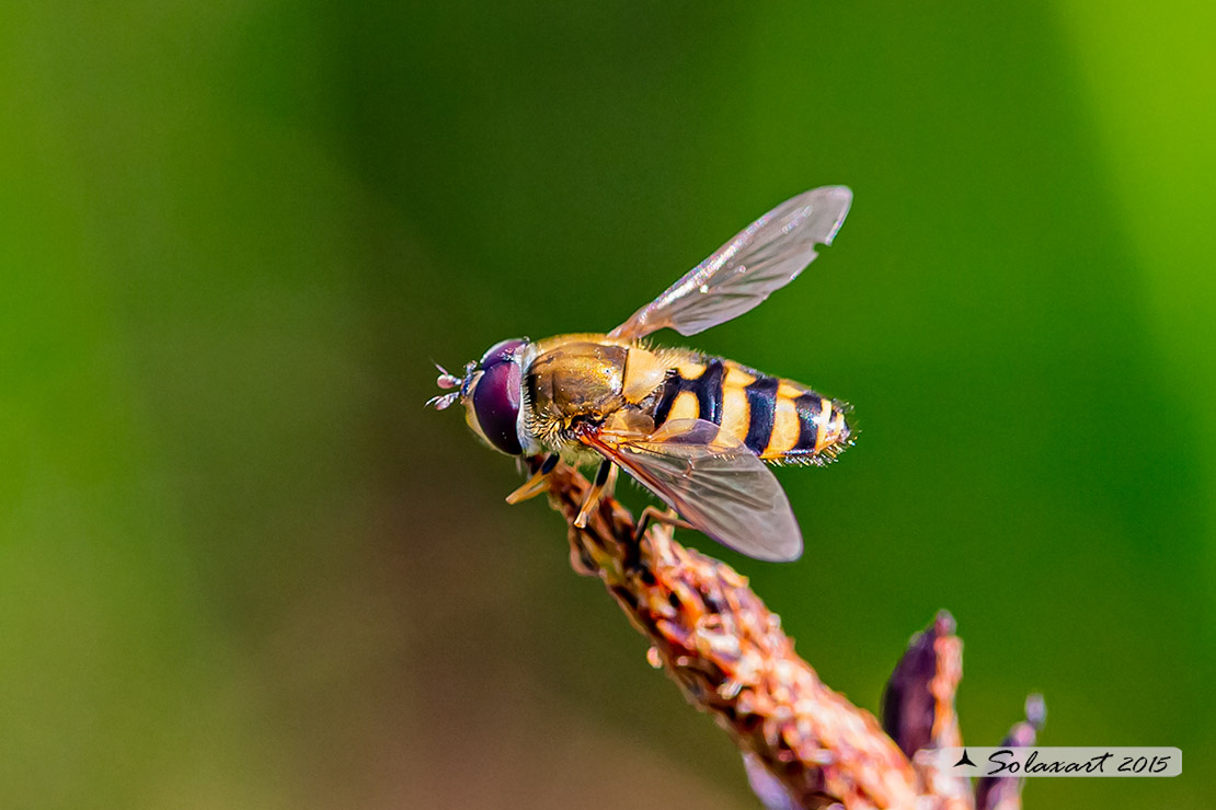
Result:
{"label": "whole hoverfly with purple eyes and spread wings perched on stem", "polygon": [[[507,495],[546,489],[558,460],[599,461],[575,523],[585,526],[623,468],[679,512],[648,520],[692,527],[759,560],[795,560],[803,537],[770,464],[824,464],[852,444],[849,407],[807,386],[722,357],[653,346],[663,328],[694,335],[755,307],[831,244],[852,202],[844,186],[786,200],[608,334],[503,340],[463,376],[443,369],[473,432],[508,455],[547,458]],[[454,390],[455,389],[455,390]]]}

